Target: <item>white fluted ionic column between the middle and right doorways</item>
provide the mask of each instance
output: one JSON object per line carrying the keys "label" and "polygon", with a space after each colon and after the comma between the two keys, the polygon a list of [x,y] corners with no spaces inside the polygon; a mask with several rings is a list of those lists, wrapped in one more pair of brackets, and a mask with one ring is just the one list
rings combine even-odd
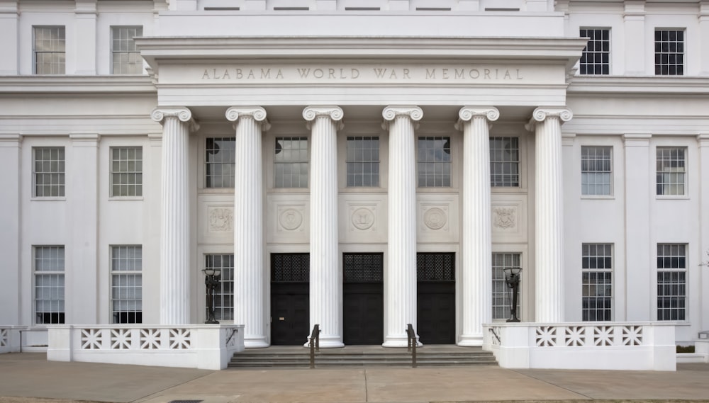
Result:
{"label": "white fluted ionic column between the middle and right doorways", "polygon": [[[406,325],[416,329],[416,159],[418,106],[387,106],[389,128],[389,249],[386,253],[384,347],[406,347]],[[417,336],[418,339],[418,336]]]}

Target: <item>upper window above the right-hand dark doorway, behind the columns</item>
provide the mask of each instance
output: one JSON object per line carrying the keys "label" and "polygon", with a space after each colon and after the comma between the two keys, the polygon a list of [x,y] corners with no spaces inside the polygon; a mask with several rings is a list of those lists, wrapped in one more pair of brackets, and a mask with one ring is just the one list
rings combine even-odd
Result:
{"label": "upper window above the right-hand dark doorway, behind the columns", "polygon": [[418,186],[450,187],[450,137],[418,137]]}

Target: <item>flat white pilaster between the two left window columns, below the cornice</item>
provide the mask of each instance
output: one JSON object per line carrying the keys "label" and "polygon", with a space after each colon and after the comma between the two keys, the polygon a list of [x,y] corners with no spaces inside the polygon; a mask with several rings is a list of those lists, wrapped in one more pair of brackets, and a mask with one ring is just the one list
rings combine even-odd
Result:
{"label": "flat white pilaster between the two left window columns, below the cornice", "polygon": [[[67,168],[69,175],[69,222],[72,223],[72,267],[67,268],[67,292],[73,289],[73,298],[67,298],[67,317],[74,323],[96,324],[99,295],[97,261],[99,236],[99,135],[69,135],[72,153]],[[67,256],[68,257],[68,256]],[[69,288],[71,287],[71,289]]]}

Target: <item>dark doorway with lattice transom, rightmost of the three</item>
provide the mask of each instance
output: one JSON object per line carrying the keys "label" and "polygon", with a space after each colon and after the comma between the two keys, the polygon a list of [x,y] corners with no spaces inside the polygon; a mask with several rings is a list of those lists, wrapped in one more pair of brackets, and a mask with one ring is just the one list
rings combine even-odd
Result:
{"label": "dark doorway with lattice transom, rightmost of the three", "polygon": [[455,254],[417,254],[416,278],[421,342],[455,344]]}

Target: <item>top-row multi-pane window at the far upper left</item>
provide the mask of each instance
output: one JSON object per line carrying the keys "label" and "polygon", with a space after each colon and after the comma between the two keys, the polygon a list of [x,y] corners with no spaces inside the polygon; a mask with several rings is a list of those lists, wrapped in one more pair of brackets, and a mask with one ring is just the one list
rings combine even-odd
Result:
{"label": "top-row multi-pane window at the far upper left", "polygon": [[35,74],[65,74],[67,45],[64,27],[34,27]]}

